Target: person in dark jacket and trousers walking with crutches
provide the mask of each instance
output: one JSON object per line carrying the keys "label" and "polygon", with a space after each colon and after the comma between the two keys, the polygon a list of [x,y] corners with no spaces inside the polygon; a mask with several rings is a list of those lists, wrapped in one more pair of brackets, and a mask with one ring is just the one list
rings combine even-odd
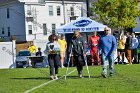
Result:
{"label": "person in dark jacket and trousers walking with crutches", "polygon": [[84,57],[86,57],[86,42],[78,30],[74,31],[74,36],[70,41],[68,54],[71,52],[73,53],[74,62],[77,67],[78,77],[82,78]]}

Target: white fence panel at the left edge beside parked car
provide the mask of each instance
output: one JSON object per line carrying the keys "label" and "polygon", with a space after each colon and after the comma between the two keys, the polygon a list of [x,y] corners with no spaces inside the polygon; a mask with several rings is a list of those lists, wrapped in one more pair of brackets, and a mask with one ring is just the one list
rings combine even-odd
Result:
{"label": "white fence panel at the left edge beside parked car", "polygon": [[15,68],[16,47],[12,42],[0,42],[0,69]]}

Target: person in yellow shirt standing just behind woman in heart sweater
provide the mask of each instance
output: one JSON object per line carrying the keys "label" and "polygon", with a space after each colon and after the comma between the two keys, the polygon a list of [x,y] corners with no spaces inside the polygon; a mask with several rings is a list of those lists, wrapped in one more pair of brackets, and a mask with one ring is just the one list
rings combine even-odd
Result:
{"label": "person in yellow shirt standing just behind woman in heart sweater", "polygon": [[58,43],[60,45],[60,62],[61,67],[64,68],[64,59],[65,59],[65,53],[67,49],[67,42],[64,39],[64,34],[61,34],[61,38],[58,39]]}

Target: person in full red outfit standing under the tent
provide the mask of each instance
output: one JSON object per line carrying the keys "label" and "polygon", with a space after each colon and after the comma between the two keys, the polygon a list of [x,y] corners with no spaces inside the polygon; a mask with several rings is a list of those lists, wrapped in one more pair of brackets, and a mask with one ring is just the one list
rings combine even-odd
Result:
{"label": "person in full red outfit standing under the tent", "polygon": [[98,65],[100,65],[100,58],[99,58],[98,48],[97,48],[98,41],[99,41],[99,37],[97,36],[97,32],[93,32],[93,36],[90,36],[89,38],[89,43],[91,46],[90,55],[91,55],[92,65],[94,65],[95,59],[98,62]]}

